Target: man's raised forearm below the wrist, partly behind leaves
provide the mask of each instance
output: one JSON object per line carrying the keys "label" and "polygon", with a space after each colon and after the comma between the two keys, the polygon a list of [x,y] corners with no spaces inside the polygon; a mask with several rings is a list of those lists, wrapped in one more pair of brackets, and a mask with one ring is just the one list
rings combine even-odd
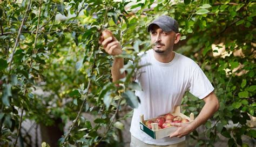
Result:
{"label": "man's raised forearm below the wrist, partly behind leaves", "polygon": [[120,69],[124,67],[124,59],[123,58],[114,58],[111,73],[113,82],[125,77],[125,72],[120,73]]}

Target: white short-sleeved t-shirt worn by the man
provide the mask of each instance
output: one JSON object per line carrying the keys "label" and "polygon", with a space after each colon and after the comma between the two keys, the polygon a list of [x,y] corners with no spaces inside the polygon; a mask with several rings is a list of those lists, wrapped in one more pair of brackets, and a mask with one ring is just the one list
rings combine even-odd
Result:
{"label": "white short-sleeved t-shirt worn by the man", "polygon": [[143,91],[136,91],[140,98],[139,107],[134,109],[130,132],[131,135],[147,144],[170,145],[185,141],[185,136],[164,137],[153,139],[139,127],[139,116],[150,119],[169,112],[174,106],[181,104],[181,99],[189,91],[199,99],[205,98],[214,88],[200,69],[190,58],[175,53],[169,63],[161,63],[154,58],[154,50],[150,49],[142,55],[140,65],[148,64],[137,71],[136,82],[140,83]]}

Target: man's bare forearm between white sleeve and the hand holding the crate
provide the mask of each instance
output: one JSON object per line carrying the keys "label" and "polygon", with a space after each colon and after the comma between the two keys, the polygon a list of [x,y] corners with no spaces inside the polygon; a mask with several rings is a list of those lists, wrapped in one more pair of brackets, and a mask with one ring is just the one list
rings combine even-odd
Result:
{"label": "man's bare forearm between white sleeve and the hand holding the crate", "polygon": [[214,93],[209,94],[205,99],[203,109],[201,109],[199,115],[191,123],[193,130],[201,126],[201,124],[204,124],[219,109],[219,102]]}

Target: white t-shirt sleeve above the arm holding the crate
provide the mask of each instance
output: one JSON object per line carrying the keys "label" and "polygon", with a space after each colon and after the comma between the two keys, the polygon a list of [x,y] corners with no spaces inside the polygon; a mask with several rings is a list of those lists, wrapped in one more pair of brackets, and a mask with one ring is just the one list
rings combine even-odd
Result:
{"label": "white t-shirt sleeve above the arm holding the crate", "polygon": [[190,82],[188,84],[188,91],[199,99],[205,98],[214,90],[210,80],[205,76],[205,73],[197,65],[192,72]]}

